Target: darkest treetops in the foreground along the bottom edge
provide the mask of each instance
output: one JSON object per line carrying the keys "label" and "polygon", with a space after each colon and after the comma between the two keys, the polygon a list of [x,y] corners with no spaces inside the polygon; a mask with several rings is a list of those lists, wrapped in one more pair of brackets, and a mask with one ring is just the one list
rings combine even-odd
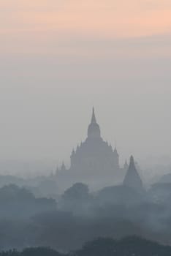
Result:
{"label": "darkest treetops in the foreground along the bottom edge", "polygon": [[164,246],[142,238],[129,237],[119,241],[111,238],[98,238],[86,243],[82,249],[61,253],[56,250],[36,247],[22,252],[10,250],[0,252],[0,256],[170,256],[171,246]]}

